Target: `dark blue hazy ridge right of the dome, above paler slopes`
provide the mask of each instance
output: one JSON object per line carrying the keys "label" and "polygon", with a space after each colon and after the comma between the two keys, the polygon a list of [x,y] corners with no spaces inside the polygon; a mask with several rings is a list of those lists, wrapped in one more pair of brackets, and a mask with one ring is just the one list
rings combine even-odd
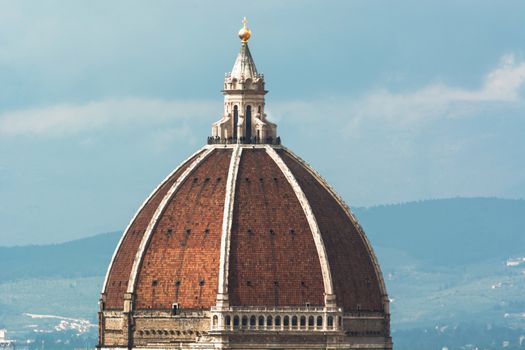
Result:
{"label": "dark blue hazy ridge right of the dome, above paler slopes", "polygon": [[426,263],[469,264],[525,255],[525,200],[437,199],[353,211],[374,247]]}

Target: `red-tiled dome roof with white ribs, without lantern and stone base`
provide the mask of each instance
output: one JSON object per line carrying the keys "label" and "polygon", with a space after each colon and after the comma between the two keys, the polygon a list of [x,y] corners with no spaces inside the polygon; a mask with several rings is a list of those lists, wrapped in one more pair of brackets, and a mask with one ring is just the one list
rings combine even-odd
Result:
{"label": "red-tiled dome roof with white ribs, without lantern and stone base", "polygon": [[381,271],[348,207],[277,145],[208,145],[125,230],[103,309],[323,306],[385,311]]}

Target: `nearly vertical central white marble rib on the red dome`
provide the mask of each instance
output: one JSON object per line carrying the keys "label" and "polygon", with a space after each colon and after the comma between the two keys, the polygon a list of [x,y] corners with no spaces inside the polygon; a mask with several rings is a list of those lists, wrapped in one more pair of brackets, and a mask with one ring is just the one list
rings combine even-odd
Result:
{"label": "nearly vertical central white marble rib on the red dome", "polygon": [[228,305],[228,268],[230,260],[230,237],[233,219],[233,204],[235,200],[235,185],[237,173],[241,161],[242,149],[236,145],[233,149],[228,169],[228,180],[226,181],[226,195],[224,201],[224,212],[222,217],[221,254],[219,267],[219,286],[217,289],[217,307]]}

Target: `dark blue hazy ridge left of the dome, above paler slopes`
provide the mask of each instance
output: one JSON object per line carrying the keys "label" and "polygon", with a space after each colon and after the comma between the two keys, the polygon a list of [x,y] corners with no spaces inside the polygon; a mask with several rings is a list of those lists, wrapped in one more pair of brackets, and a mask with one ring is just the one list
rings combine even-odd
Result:
{"label": "dark blue hazy ridge left of the dome, above paler slopes", "polygon": [[0,283],[29,278],[101,276],[120,232],[51,245],[0,247]]}

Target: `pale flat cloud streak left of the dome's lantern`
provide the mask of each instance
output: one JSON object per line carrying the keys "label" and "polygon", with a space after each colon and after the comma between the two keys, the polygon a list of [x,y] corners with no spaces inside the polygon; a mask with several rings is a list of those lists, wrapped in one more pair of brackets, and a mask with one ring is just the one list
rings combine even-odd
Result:
{"label": "pale flat cloud streak left of the dome's lantern", "polygon": [[102,128],[127,128],[195,120],[217,114],[211,101],[113,99],[62,104],[0,114],[0,135],[65,136]]}

